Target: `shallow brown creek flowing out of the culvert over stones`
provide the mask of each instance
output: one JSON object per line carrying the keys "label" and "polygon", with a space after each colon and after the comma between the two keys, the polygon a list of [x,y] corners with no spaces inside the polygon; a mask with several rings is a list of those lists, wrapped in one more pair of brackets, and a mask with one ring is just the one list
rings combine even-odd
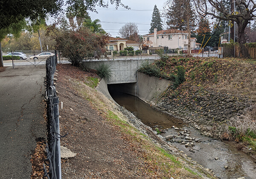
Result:
{"label": "shallow brown creek flowing out of the culvert over stones", "polygon": [[[201,134],[189,124],[158,111],[139,98],[108,88],[112,98],[153,130],[157,127],[168,143],[176,146],[204,168],[209,168],[220,179],[256,179],[255,159],[233,142],[223,142]],[[173,127],[175,126],[175,127]]]}

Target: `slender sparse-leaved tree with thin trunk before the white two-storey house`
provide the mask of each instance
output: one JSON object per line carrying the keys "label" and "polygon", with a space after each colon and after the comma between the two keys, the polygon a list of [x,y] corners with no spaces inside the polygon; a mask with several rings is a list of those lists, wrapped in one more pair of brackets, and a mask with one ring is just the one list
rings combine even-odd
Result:
{"label": "slender sparse-leaved tree with thin trunk before the white two-storey house", "polygon": [[191,53],[191,29],[194,26],[195,12],[191,0],[167,0],[167,25],[170,29],[186,30],[188,32],[188,54]]}

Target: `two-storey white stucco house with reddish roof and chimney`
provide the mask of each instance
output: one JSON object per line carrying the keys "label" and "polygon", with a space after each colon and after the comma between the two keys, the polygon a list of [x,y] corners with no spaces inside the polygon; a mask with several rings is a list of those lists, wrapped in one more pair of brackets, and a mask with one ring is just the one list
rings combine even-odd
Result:
{"label": "two-storey white stucco house with reddish roof and chimney", "polygon": [[[188,33],[176,29],[160,30],[154,29],[151,34],[143,35],[144,43],[148,42],[148,46],[159,47],[164,46],[169,49],[188,48]],[[191,48],[200,47],[200,43],[196,43],[196,38],[191,38]]]}

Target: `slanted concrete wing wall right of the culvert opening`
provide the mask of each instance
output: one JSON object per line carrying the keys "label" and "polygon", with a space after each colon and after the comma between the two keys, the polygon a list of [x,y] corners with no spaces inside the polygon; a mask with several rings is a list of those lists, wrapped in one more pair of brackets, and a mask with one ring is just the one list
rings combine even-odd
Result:
{"label": "slanted concrete wing wall right of the culvert opening", "polygon": [[167,89],[170,81],[137,73],[137,97],[149,104],[155,104],[157,98]]}

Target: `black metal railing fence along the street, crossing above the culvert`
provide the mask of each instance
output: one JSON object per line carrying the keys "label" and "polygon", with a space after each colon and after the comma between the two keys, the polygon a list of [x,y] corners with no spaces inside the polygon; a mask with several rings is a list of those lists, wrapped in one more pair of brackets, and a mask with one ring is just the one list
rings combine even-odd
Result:
{"label": "black metal railing fence along the street, crossing above the culvert", "polygon": [[[83,61],[120,61],[120,60],[157,60],[159,59],[159,53],[157,52],[159,49],[148,49],[148,50],[107,50],[104,54],[100,56],[99,59],[96,58],[87,58]],[[199,48],[191,49],[191,54],[193,56],[218,56],[218,52],[212,50],[200,50]],[[178,55],[186,55],[187,49],[177,48],[177,49],[163,49],[163,54],[167,56],[178,56]],[[19,60],[14,60],[9,63],[12,63],[13,68],[18,66],[44,66],[46,64],[46,60],[49,57],[55,56],[58,64],[69,64],[70,59],[68,57],[64,57],[64,55],[60,51],[49,50],[49,51],[36,51],[36,50],[27,50],[27,51],[15,51],[9,52],[7,55],[10,56],[18,56]]]}

